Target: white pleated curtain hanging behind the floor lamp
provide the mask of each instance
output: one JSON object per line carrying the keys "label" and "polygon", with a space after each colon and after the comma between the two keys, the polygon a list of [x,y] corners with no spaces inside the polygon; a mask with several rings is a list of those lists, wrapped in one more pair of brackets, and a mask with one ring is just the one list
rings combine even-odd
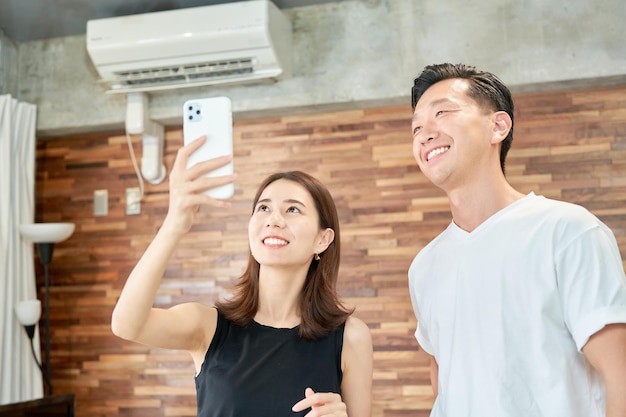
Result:
{"label": "white pleated curtain hanging behind the floor lamp", "polygon": [[[33,244],[19,225],[35,215],[37,107],[0,95],[0,404],[43,397],[43,379],[15,305],[37,298]],[[39,326],[33,339],[41,362]]]}

